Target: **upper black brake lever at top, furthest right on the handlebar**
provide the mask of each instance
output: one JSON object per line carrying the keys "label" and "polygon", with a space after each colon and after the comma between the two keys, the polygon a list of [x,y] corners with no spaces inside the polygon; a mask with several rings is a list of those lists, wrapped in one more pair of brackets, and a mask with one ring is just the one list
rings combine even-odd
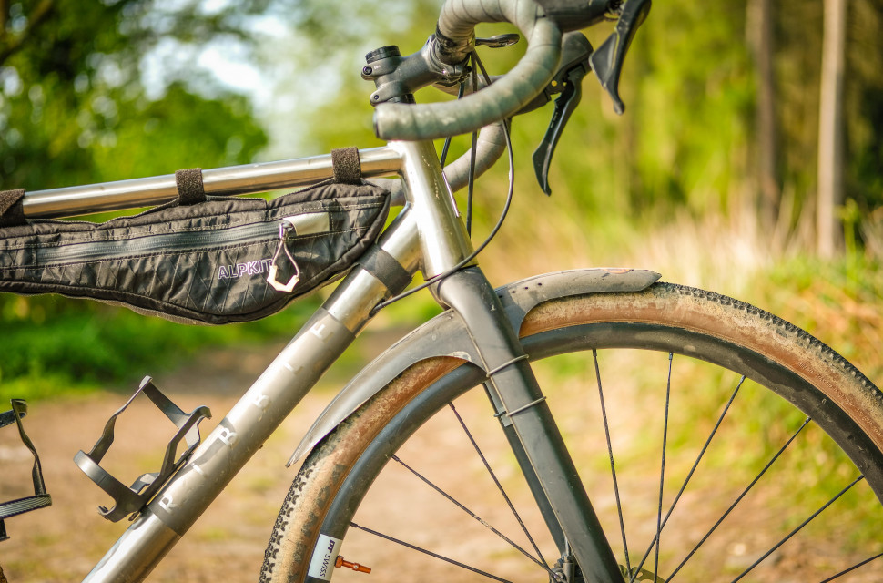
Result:
{"label": "upper black brake lever at top, furthest right on the handlebar", "polygon": [[623,72],[625,53],[632,44],[634,33],[644,24],[650,5],[651,0],[626,0],[613,34],[589,57],[601,87],[614,100],[614,111],[619,115],[625,111],[625,104],[619,97],[619,77]]}

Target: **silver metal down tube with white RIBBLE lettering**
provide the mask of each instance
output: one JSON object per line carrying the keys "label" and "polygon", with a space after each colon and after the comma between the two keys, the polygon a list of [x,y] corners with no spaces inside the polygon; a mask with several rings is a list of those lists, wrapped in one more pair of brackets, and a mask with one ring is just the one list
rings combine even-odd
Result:
{"label": "silver metal down tube with white RIBBLE lettering", "polygon": [[[411,274],[418,267],[417,230],[415,214],[406,207],[378,241]],[[127,583],[146,578],[352,343],[370,321],[373,307],[390,293],[361,266],[350,271],[84,580]]]}

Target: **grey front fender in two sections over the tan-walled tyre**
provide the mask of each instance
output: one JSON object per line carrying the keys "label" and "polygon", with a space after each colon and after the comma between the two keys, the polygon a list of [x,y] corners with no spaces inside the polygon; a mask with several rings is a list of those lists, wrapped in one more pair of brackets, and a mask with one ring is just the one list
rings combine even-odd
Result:
{"label": "grey front fender in two sections over the tan-walled tyre", "polygon": [[[496,292],[513,329],[518,330],[524,316],[548,300],[586,293],[639,292],[659,277],[654,271],[631,269],[558,271],[514,281]],[[452,310],[422,324],[362,369],[319,415],[287,465],[310,453],[325,435],[411,365],[436,356],[482,367],[469,334]]]}

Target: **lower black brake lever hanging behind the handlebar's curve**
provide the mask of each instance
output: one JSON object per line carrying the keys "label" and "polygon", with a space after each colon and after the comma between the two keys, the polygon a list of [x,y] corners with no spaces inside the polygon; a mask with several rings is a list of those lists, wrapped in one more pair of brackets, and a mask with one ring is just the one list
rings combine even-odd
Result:
{"label": "lower black brake lever hanging behind the handlebar's curve", "polygon": [[552,165],[555,147],[558,145],[564,126],[583,97],[583,78],[589,72],[589,57],[591,55],[592,45],[582,33],[573,32],[564,35],[563,66],[559,67],[558,73],[555,74],[543,93],[523,109],[524,111],[545,105],[553,95],[561,94],[555,99],[552,120],[549,122],[549,128],[546,129],[543,141],[533,152],[533,171],[536,173],[540,188],[547,195],[552,194],[552,189],[549,188],[549,167]]}

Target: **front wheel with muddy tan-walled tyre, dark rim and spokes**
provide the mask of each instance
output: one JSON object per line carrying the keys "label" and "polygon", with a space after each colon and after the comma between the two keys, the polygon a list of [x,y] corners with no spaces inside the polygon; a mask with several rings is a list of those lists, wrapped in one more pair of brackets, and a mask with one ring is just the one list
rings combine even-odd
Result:
{"label": "front wheel with muddy tan-walled tyre, dark rim and spokes", "polygon": [[[883,580],[883,394],[825,344],[665,283],[544,302],[521,336],[625,579]],[[262,580],[581,580],[482,380],[422,361],[340,424]]]}

